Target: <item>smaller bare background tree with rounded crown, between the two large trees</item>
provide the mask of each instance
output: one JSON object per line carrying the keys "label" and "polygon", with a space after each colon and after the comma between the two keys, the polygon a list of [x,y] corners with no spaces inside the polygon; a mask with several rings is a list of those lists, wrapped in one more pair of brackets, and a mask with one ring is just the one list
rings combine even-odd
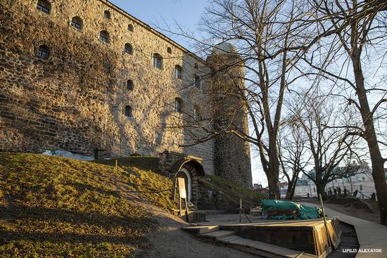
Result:
{"label": "smaller bare background tree with rounded crown, between the two large trees", "polygon": [[[350,110],[338,112],[330,95],[319,92],[304,93],[293,102],[290,123],[296,124],[307,136],[308,153],[314,168],[304,172],[324,196],[326,183],[335,179],[337,167],[352,153],[351,146],[357,140],[350,126],[353,115]],[[300,104],[303,103],[303,104]]]}

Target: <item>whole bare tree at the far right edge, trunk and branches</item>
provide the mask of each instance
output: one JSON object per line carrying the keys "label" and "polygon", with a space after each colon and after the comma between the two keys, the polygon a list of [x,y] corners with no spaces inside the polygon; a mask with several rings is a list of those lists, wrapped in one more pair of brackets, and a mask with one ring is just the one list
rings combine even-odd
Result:
{"label": "whole bare tree at the far right edge, trunk and branches", "polygon": [[[386,138],[378,125],[386,119],[386,1],[310,1],[321,30],[329,31],[307,54],[305,61],[315,74],[336,86],[335,93],[353,105],[360,115],[360,127],[352,134],[364,138],[372,162],[381,223],[387,225],[387,185],[381,148]],[[385,136],[385,135],[384,135]],[[383,141],[384,140],[384,141]]]}

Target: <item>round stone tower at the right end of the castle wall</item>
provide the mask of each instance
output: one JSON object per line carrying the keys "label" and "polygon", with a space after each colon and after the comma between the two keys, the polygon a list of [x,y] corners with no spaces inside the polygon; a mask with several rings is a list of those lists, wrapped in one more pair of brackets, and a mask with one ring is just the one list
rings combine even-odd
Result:
{"label": "round stone tower at the right end of the castle wall", "polygon": [[210,100],[215,117],[215,174],[251,188],[250,146],[231,130],[248,135],[243,60],[229,43],[214,47],[207,59],[212,69]]}

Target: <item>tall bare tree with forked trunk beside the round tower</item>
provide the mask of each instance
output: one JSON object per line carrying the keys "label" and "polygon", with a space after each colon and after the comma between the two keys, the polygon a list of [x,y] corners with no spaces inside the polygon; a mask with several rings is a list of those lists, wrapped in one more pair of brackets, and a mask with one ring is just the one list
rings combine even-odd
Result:
{"label": "tall bare tree with forked trunk beside the round tower", "polygon": [[206,42],[228,41],[238,49],[239,62],[232,65],[246,71],[241,78],[246,82],[243,105],[252,131],[229,131],[258,150],[270,198],[280,196],[277,138],[286,89],[296,81],[289,75],[309,39],[300,2],[214,0],[203,18]]}

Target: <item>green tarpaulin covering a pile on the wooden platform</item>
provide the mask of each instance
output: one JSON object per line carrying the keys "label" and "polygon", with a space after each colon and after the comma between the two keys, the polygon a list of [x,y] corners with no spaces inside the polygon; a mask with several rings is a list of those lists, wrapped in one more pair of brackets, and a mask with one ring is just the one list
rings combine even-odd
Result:
{"label": "green tarpaulin covering a pile on the wooden platform", "polygon": [[317,207],[300,205],[288,200],[262,200],[264,219],[318,219],[322,214]]}

